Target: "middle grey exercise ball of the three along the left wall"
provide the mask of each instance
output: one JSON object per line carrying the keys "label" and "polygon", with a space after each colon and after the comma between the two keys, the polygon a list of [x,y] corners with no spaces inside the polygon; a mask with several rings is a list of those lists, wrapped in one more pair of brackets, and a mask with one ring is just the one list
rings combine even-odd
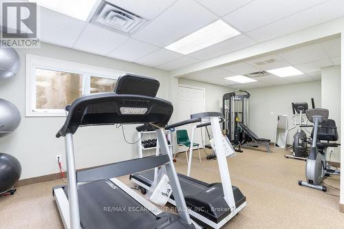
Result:
{"label": "middle grey exercise ball of the three along the left wall", "polygon": [[12,133],[20,123],[19,109],[12,102],[0,98],[0,138]]}

